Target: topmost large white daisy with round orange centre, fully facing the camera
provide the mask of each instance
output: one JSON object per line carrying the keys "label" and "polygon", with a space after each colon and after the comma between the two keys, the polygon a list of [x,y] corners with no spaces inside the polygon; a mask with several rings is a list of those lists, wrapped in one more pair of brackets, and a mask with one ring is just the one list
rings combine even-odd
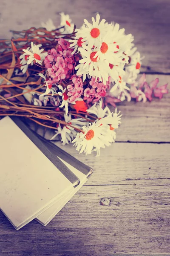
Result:
{"label": "topmost large white daisy with round orange centre, fully facing the camera", "polygon": [[79,35],[88,43],[88,47],[92,48],[93,46],[98,47],[101,38],[105,35],[111,25],[105,23],[105,20],[102,19],[99,23],[100,15],[96,15],[96,21],[92,17],[93,24],[89,23],[88,20],[84,19],[85,26],[82,26],[81,29],[78,29]]}

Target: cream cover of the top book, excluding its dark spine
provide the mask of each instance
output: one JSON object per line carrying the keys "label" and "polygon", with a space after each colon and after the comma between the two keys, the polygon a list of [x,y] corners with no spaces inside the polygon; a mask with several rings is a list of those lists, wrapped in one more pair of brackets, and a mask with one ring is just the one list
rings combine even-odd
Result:
{"label": "cream cover of the top book, excluding its dark spine", "polygon": [[8,116],[0,120],[0,209],[16,229],[71,187]]}

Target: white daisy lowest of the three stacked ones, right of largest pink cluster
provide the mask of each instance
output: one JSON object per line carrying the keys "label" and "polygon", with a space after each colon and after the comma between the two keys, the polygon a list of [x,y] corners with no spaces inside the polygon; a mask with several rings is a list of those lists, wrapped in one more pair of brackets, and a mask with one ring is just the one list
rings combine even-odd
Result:
{"label": "white daisy lowest of the three stacked ones, right of largest pink cluster", "polygon": [[[108,81],[108,70],[110,69],[107,63],[102,60],[98,61],[97,57],[94,58],[96,51],[91,50],[86,45],[82,45],[82,48],[79,48],[79,51],[81,52],[82,56],[85,56],[85,58],[79,60],[79,63],[84,64],[84,66],[82,66],[83,69],[88,70],[90,76],[96,77],[96,79],[99,78],[99,81],[103,81],[105,84],[106,81]],[[81,73],[80,71],[78,73],[83,74],[83,69]]]}

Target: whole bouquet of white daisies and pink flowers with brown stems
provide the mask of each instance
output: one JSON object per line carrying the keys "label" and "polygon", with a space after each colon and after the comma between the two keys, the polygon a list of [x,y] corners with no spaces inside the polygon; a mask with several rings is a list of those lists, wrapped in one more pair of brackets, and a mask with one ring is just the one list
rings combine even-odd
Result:
{"label": "whole bouquet of white daisies and pink flowers with brown stems", "polygon": [[118,23],[84,20],[80,29],[61,13],[42,27],[12,31],[0,40],[0,116],[24,116],[55,131],[63,144],[91,154],[111,145],[121,123],[108,104],[131,99],[146,102],[167,93],[143,74],[137,81],[141,55]]}

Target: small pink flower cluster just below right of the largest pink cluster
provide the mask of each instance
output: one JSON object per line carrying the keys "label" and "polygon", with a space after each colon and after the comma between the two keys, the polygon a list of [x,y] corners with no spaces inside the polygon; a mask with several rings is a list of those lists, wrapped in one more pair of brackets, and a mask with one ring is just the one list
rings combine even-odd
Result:
{"label": "small pink flower cluster just below right of the largest pink cluster", "polygon": [[77,98],[79,98],[83,93],[83,82],[79,76],[72,76],[72,82],[67,86],[68,96],[71,96],[69,102],[74,102]]}

